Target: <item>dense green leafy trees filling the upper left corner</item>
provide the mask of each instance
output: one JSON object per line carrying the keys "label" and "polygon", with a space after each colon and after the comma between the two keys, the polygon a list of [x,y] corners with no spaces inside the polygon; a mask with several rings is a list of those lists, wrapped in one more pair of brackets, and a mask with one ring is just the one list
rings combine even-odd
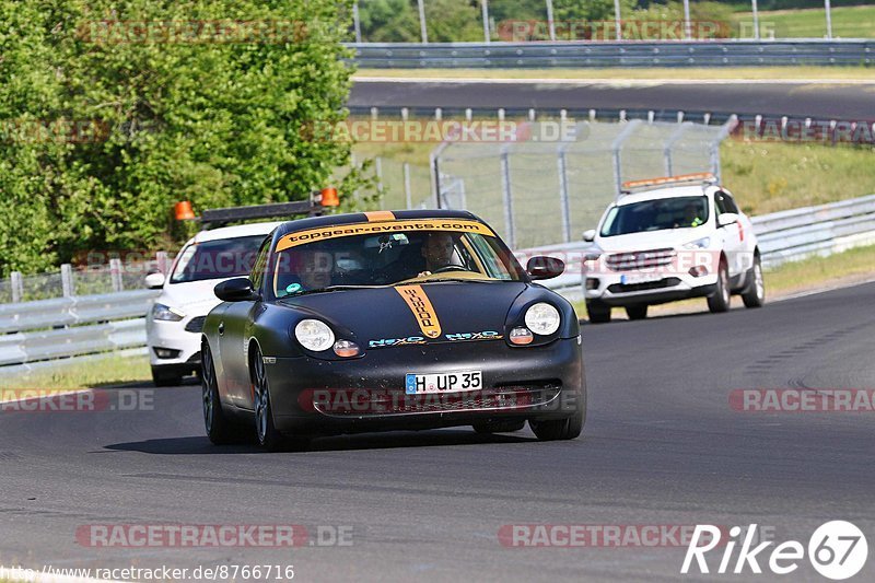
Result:
{"label": "dense green leafy trees filling the upper left corner", "polygon": [[175,201],[301,199],[349,161],[306,128],[346,117],[351,0],[0,0],[0,24],[4,275],[166,246]]}

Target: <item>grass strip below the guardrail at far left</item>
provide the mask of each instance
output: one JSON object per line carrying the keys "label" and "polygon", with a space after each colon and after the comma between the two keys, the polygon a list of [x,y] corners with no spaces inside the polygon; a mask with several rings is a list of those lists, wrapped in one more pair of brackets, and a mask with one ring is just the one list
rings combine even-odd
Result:
{"label": "grass strip below the guardrail at far left", "polygon": [[0,377],[3,388],[43,388],[75,390],[104,385],[151,381],[147,357],[113,357],[90,362],[62,365],[26,375]]}

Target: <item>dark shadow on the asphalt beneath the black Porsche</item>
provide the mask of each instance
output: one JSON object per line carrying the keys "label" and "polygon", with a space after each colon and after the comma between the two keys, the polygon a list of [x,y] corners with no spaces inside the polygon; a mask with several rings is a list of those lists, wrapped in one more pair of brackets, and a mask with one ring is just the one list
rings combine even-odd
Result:
{"label": "dark shadow on the asphalt beneath the black Porsche", "polygon": [[[532,435],[480,434],[474,430],[392,431],[318,438],[305,448],[287,453],[345,452],[354,450],[394,450],[399,447],[427,447],[448,445],[479,445],[487,443],[536,442]],[[156,440],[114,443],[106,450],[140,452],[159,455],[212,455],[267,453],[253,443],[213,445],[206,436],[165,438]]]}

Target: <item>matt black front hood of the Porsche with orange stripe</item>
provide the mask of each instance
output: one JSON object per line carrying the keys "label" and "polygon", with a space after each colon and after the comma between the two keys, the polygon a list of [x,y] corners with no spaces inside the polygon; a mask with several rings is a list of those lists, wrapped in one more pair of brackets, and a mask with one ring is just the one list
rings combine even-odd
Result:
{"label": "matt black front hood of the Porsche with orange stripe", "polygon": [[[411,288],[416,288],[413,295],[406,300],[400,292]],[[446,335],[502,335],[508,312],[527,288],[527,283],[517,281],[447,281],[314,293],[280,303],[322,316],[351,331],[365,346],[374,346],[372,341],[417,337],[440,342],[451,340]],[[423,295],[428,300],[423,307],[425,315],[417,317],[415,305]],[[429,304],[434,322],[428,316]]]}

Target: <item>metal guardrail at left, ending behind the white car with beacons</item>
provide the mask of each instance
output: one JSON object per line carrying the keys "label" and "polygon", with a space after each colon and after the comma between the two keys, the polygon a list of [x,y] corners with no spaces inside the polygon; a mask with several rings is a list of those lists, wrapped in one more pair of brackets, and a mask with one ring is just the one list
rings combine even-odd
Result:
{"label": "metal guardrail at left, ending behind the white car with beacons", "polygon": [[84,355],[143,353],[144,316],[158,294],[135,290],[0,305],[0,375]]}

